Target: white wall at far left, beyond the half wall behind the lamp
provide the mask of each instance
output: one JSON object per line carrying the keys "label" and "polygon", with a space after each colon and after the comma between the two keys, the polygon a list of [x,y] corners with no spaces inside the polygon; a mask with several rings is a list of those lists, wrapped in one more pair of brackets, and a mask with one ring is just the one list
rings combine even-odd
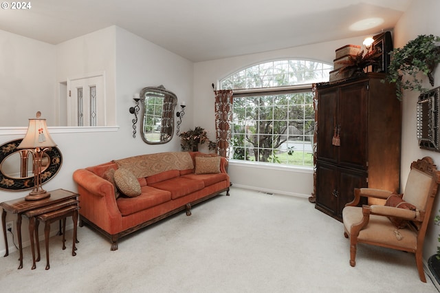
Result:
{"label": "white wall at far left, beyond the half wall behind the lamp", "polygon": [[56,47],[0,30],[0,127],[26,127],[41,111],[54,123]]}

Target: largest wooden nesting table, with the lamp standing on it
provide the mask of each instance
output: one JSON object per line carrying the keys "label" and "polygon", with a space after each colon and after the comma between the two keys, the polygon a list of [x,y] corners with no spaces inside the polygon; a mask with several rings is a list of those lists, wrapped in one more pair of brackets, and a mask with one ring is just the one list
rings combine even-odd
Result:
{"label": "largest wooden nesting table, with the lamp standing on it", "polygon": [[2,202],[0,206],[3,208],[3,213],[1,214],[1,224],[3,226],[3,236],[5,238],[5,257],[8,256],[8,236],[6,233],[6,213],[17,214],[17,237],[19,239],[19,252],[20,252],[20,264],[19,269],[23,268],[23,244],[21,242],[21,218],[23,213],[36,208],[42,208],[44,206],[51,206],[53,204],[58,204],[59,202],[67,201],[68,199],[74,199],[78,197],[78,193],[73,193],[72,191],[66,191],[65,189],[56,189],[54,191],[49,191],[50,197],[45,199],[27,201],[24,197],[19,199],[12,199],[8,202]]}

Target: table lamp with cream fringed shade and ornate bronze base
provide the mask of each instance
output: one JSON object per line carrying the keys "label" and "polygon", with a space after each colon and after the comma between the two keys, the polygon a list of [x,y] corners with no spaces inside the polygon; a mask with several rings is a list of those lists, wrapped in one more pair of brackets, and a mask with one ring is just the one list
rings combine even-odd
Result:
{"label": "table lamp with cream fringed shade and ornate bronze base", "polygon": [[25,197],[25,200],[39,200],[50,197],[50,193],[47,193],[41,187],[41,159],[45,151],[50,150],[52,146],[56,146],[56,143],[47,131],[46,120],[40,117],[41,112],[38,111],[36,112],[36,119],[29,119],[28,132],[17,146],[17,149],[29,149],[34,158],[34,188]]}

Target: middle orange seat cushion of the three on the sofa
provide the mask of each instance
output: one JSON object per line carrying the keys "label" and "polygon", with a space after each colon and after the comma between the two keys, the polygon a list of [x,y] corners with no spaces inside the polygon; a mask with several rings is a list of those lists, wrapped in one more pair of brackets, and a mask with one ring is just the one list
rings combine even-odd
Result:
{"label": "middle orange seat cushion of the three on the sofa", "polygon": [[170,191],[171,198],[177,199],[179,197],[184,197],[185,195],[203,189],[205,184],[203,184],[202,180],[192,180],[185,177],[175,177],[173,179],[149,184],[148,186],[153,186],[164,191]]}

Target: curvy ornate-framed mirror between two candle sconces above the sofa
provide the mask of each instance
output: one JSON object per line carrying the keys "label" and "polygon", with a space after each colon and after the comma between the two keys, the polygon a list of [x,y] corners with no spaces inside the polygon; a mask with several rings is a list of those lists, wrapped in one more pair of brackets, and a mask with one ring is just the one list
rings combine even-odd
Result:
{"label": "curvy ornate-framed mirror between two candle sconces above the sofa", "polygon": [[142,103],[142,140],[147,144],[164,144],[173,138],[174,109],[177,96],[159,87],[144,87],[140,92]]}

